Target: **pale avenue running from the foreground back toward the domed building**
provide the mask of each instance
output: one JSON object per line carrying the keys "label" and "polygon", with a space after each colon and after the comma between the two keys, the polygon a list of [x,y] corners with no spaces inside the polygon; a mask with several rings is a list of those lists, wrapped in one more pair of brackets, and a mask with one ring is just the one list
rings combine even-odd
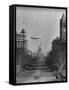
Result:
{"label": "pale avenue running from the foreground back toward the domed building", "polygon": [[[43,68],[45,64],[43,56],[39,57],[37,64],[37,68]],[[53,76],[52,72],[48,71],[48,68],[22,71],[16,78],[17,83],[46,82],[53,81],[54,79],[56,79],[55,76]]]}

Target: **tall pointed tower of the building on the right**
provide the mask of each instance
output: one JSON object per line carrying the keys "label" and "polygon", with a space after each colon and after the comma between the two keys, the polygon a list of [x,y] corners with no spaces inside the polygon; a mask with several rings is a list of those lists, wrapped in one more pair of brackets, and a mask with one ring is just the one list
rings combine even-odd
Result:
{"label": "tall pointed tower of the building on the right", "polygon": [[60,39],[66,41],[66,15],[60,19]]}

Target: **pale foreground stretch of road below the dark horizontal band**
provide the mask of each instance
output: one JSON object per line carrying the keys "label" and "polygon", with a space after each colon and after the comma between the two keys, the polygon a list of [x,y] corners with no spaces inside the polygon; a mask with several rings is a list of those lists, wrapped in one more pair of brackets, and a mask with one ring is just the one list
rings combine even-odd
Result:
{"label": "pale foreground stretch of road below the dark horizontal band", "polygon": [[53,81],[54,79],[56,78],[52,75],[52,72],[45,72],[42,70],[21,72],[16,78],[17,83],[46,82]]}

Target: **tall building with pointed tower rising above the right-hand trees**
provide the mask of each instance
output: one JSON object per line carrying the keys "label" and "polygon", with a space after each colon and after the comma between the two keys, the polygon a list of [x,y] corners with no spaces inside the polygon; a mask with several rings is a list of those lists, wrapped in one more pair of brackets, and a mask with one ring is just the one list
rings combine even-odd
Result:
{"label": "tall building with pointed tower rising above the right-hand trees", "polygon": [[66,49],[66,15],[63,14],[60,19],[60,37],[55,38],[52,41],[52,49],[53,50],[60,50]]}

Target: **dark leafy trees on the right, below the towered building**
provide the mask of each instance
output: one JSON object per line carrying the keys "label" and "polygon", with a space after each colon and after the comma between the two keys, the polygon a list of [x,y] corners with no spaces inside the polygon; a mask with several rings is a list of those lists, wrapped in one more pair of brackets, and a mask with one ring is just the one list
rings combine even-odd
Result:
{"label": "dark leafy trees on the right, below the towered building", "polygon": [[65,80],[65,75],[63,74],[66,66],[66,51],[65,48],[62,50],[61,48],[52,50],[49,52],[46,61],[47,66],[51,69],[52,72],[55,72],[57,80]]}

